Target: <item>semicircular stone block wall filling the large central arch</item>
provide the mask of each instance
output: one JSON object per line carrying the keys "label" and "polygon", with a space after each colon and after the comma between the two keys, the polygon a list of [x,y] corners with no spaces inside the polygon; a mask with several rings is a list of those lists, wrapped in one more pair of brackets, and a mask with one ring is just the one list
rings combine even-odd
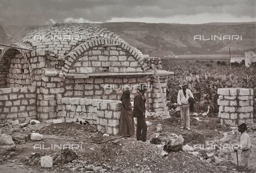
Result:
{"label": "semicircular stone block wall filling the large central arch", "polygon": [[95,46],[79,55],[69,73],[142,71],[134,57],[121,47]]}

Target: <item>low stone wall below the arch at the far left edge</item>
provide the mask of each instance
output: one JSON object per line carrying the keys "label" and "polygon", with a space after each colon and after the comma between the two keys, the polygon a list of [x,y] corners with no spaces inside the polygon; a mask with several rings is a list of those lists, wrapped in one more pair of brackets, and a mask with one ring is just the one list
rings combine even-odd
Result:
{"label": "low stone wall below the arch at the far left edge", "polygon": [[36,87],[0,89],[0,123],[36,119]]}

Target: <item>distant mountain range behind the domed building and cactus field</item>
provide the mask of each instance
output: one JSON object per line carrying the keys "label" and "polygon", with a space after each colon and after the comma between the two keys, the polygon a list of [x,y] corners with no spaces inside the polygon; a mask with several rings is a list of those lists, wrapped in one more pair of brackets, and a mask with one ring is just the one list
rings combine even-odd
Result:
{"label": "distant mountain range behind the domed building and cactus field", "polygon": [[[256,51],[256,22],[206,24],[111,22],[99,23],[99,25],[101,28],[113,31],[131,46],[150,56],[173,56],[171,52],[174,55],[229,53],[229,47],[231,53],[236,54],[243,54],[247,50]],[[0,26],[0,43],[18,42],[31,30],[42,27],[45,26]],[[223,36],[225,36],[224,40]]]}

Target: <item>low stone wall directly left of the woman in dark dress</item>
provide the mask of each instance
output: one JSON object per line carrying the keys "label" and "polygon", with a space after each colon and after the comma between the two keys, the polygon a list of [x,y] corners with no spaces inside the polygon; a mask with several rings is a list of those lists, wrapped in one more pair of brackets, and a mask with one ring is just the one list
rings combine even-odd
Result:
{"label": "low stone wall directly left of the woman in dark dress", "polygon": [[113,100],[60,98],[58,118],[66,122],[81,118],[97,125],[101,133],[118,135],[121,106],[120,101]]}

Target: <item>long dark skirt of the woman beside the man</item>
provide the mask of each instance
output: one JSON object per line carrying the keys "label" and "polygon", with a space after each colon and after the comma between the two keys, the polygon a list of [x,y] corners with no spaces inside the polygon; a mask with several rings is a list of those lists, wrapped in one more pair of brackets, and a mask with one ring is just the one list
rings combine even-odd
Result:
{"label": "long dark skirt of the woman beside the man", "polygon": [[120,116],[120,136],[129,137],[135,134],[134,119],[132,117],[132,110],[122,108]]}

